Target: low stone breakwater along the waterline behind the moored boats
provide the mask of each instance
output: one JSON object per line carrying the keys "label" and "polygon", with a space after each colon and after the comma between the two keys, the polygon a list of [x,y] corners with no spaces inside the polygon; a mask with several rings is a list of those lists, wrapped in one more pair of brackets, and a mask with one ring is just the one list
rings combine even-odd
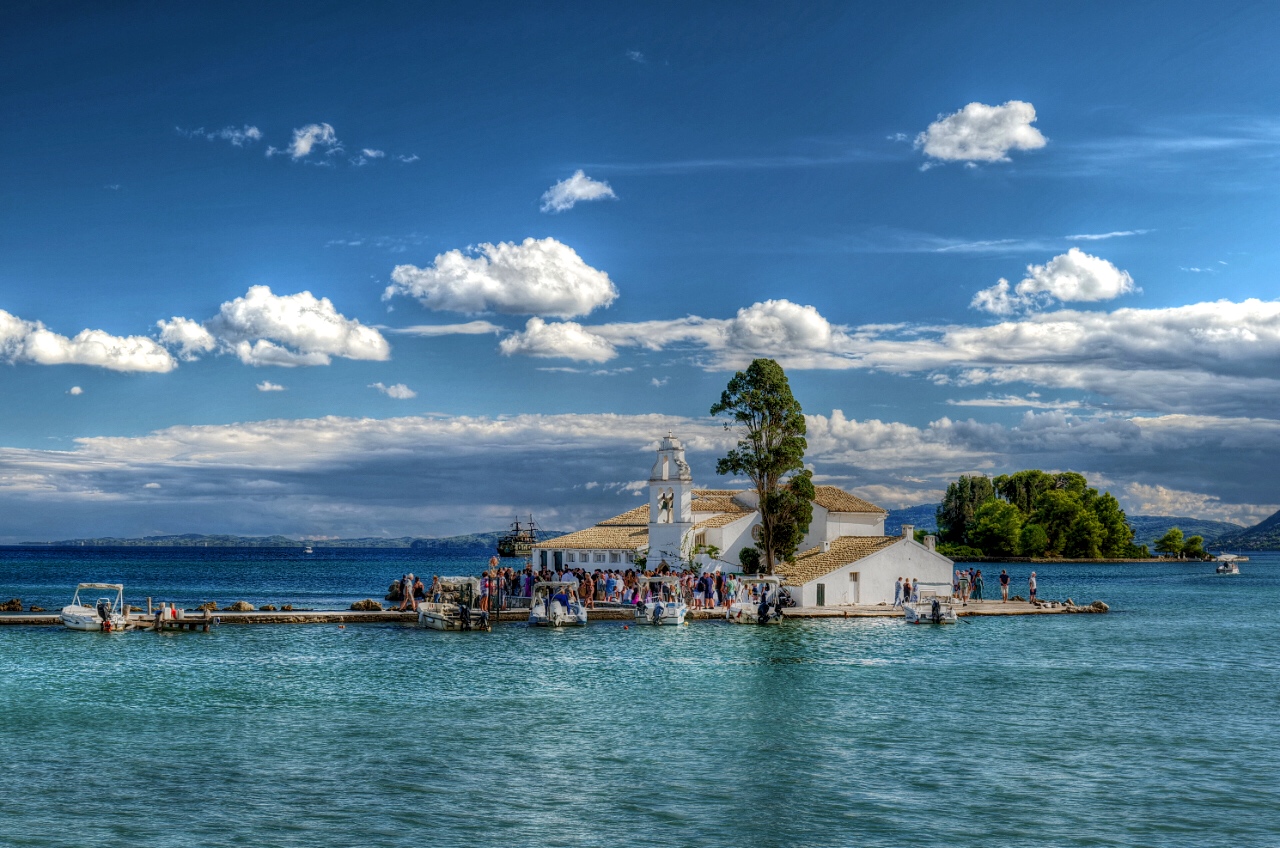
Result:
{"label": "low stone breakwater along the waterline behind the moored boats", "polygon": [[[234,605],[230,605],[234,606]],[[244,606],[248,606],[247,603]],[[352,605],[355,606],[355,605]],[[1070,598],[1066,601],[975,601],[956,608],[961,617],[1002,616],[1002,615],[1079,615],[1107,612],[1102,601],[1079,606]],[[202,612],[187,611],[191,619],[202,617]],[[590,621],[632,621],[635,611],[630,607],[605,607],[589,611]],[[499,621],[525,621],[525,610],[507,610]],[[901,610],[884,606],[831,606],[787,610],[788,619],[900,619]],[[142,628],[150,626],[152,617],[133,615],[133,621]],[[398,610],[224,610],[215,614],[216,624],[413,624],[417,614]],[[690,610],[689,621],[723,621],[723,610]],[[50,612],[4,612],[0,625],[56,625],[61,624],[58,614]]]}

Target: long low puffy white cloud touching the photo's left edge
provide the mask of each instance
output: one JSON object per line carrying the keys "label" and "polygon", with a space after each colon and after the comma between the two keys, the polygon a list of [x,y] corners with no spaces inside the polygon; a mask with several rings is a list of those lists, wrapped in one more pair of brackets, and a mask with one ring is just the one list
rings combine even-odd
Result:
{"label": "long low puffy white cloud touching the photo's left edge", "polygon": [[165,373],[178,363],[145,336],[111,336],[84,329],[68,338],[40,322],[28,322],[0,309],[0,361],[36,365],[93,365],[113,371]]}

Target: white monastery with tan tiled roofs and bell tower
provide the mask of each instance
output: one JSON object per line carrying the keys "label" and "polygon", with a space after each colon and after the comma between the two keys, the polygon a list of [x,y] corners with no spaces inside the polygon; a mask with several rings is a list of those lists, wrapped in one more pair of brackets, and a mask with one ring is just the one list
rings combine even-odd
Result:
{"label": "white monastery with tan tiled roofs and bell tower", "polygon": [[[815,485],[813,523],[795,561],[777,574],[801,607],[892,603],[899,578],[951,593],[954,564],[920,544],[911,525],[884,535],[884,510],[835,485]],[[739,571],[737,555],[755,543],[760,523],[754,491],[700,489],[680,439],[667,436],[649,473],[649,502],[595,526],[547,539],[534,547],[534,566],[559,570],[634,567],[649,570],[694,562],[703,570]],[[708,550],[714,548],[713,557]]]}

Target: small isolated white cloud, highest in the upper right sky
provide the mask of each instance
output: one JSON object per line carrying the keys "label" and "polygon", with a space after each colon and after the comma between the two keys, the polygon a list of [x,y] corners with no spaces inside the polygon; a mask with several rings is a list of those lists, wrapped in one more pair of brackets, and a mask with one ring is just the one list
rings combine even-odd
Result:
{"label": "small isolated white cloud, highest in the upper right sky", "polygon": [[1000,106],[972,102],[938,115],[915,137],[925,156],[943,161],[1009,161],[1010,150],[1037,150],[1046,143],[1036,127],[1036,106],[1010,100]]}

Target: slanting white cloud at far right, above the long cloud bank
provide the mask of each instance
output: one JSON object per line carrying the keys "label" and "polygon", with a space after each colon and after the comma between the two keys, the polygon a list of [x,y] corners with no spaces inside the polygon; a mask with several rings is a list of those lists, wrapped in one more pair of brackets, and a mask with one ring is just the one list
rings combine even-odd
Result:
{"label": "slanting white cloud at far right, above the long cloud bank", "polygon": [[995,315],[1010,315],[1019,309],[1053,301],[1115,300],[1135,291],[1140,289],[1133,284],[1129,272],[1073,247],[1043,265],[1028,265],[1027,277],[1015,288],[1010,287],[1007,279],[1001,279],[991,288],[982,289],[974,295],[970,307]]}

